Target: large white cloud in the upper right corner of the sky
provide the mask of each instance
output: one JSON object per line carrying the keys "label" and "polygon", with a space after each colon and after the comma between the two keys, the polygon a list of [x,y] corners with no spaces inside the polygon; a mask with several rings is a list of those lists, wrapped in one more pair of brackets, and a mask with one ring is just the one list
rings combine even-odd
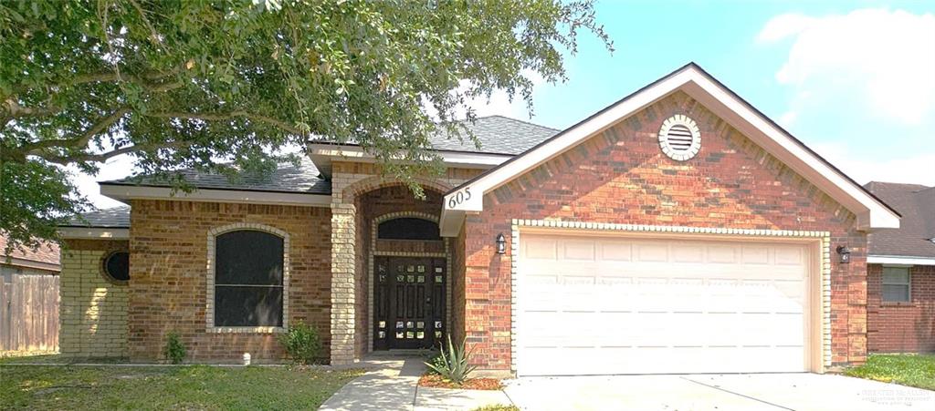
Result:
{"label": "large white cloud in the upper right corner of the sky", "polygon": [[[757,35],[761,43],[784,39],[792,46],[776,78],[799,95],[851,95],[870,115],[904,125],[935,117],[935,15],[877,8],[784,14]],[[808,102],[793,106],[801,110]]]}

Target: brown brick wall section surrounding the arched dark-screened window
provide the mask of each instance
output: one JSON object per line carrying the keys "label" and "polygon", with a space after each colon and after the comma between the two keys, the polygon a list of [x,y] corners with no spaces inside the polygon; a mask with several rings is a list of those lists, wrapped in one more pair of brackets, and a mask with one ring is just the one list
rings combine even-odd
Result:
{"label": "brown brick wall section surrounding the arched dark-screened window", "polygon": [[180,333],[192,361],[282,356],[276,334],[207,333],[208,232],[236,222],[290,235],[289,321],[315,326],[330,340],[331,210],[326,207],[134,201],[130,229],[130,358],[163,358],[165,333]]}

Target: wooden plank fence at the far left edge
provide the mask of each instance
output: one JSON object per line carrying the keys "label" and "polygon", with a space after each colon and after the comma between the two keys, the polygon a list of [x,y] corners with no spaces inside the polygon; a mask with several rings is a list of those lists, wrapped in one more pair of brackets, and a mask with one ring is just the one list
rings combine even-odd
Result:
{"label": "wooden plank fence at the far left edge", "polygon": [[0,351],[58,349],[59,276],[0,276]]}

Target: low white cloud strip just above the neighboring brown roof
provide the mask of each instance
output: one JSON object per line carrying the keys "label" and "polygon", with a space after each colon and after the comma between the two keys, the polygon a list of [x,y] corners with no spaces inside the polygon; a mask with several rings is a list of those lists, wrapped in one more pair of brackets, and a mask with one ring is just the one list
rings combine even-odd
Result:
{"label": "low white cloud strip just above the neighboring brown roof", "polygon": [[812,149],[860,184],[870,181],[935,186],[935,153],[908,152],[899,158],[861,156],[839,143],[813,144]]}

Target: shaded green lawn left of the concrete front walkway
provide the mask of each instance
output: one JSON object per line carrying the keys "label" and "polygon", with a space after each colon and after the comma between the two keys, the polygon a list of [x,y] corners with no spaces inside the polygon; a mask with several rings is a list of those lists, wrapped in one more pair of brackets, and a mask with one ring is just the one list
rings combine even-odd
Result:
{"label": "shaded green lawn left of the concrete front walkway", "polygon": [[0,365],[0,409],[316,409],[361,370]]}

